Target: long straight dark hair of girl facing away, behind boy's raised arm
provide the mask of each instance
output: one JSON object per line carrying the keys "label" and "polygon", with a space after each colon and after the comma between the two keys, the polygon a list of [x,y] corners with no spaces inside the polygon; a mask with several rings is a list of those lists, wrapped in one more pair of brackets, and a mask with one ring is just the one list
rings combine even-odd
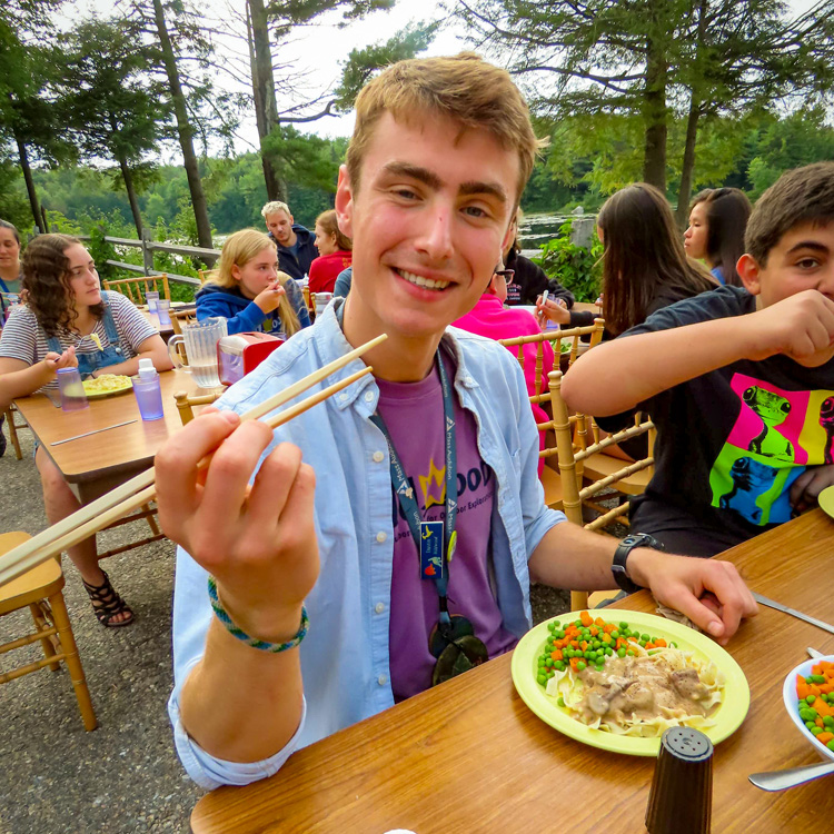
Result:
{"label": "long straight dark hair of girl facing away, behind boy's raised arm", "polygon": [[[597,216],[603,242],[603,317],[613,336],[634,327],[655,310],[714,289],[717,284],[686,257],[666,198],[638,182],[608,198]],[[539,298],[539,314],[554,321],[564,310]]]}

